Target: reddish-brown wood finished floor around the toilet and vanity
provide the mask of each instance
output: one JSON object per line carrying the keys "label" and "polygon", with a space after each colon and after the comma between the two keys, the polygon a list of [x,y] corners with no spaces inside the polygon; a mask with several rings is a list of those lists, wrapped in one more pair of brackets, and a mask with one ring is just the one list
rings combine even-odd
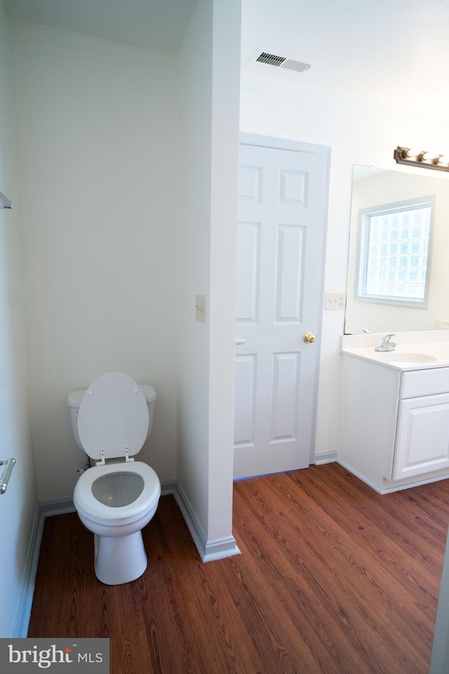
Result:
{"label": "reddish-brown wood finished floor around the toilet and vanity", "polygon": [[449,481],[380,496],[336,463],[234,485],[242,554],[203,564],[172,496],[105,586],[76,514],[45,523],[30,637],[109,637],[111,674],[428,674]]}

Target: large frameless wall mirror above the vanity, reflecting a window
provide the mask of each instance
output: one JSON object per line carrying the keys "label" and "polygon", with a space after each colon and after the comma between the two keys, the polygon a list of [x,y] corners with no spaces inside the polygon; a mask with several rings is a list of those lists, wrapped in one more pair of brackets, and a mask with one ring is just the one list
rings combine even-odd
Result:
{"label": "large frameless wall mirror above the vanity, reflecting a window", "polygon": [[354,166],[345,334],[449,329],[449,181]]}

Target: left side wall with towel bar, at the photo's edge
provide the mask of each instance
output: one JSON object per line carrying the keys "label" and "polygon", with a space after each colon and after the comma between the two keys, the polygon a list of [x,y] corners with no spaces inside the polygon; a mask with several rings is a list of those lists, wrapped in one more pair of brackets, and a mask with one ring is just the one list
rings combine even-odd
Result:
{"label": "left side wall with towel bar, at the photo's edge", "polygon": [[0,2],[0,190],[13,210],[0,210],[0,458],[17,463],[0,495],[0,637],[23,636],[21,604],[29,539],[36,514],[27,407],[27,355],[20,260],[19,193],[15,175],[9,22]]}

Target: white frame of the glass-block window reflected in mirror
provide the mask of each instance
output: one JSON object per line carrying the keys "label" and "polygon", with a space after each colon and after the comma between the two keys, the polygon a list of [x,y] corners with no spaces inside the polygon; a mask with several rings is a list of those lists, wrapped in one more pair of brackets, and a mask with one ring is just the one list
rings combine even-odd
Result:
{"label": "white frame of the glass-block window reflected in mirror", "polygon": [[[370,206],[368,209],[358,211],[358,242],[357,242],[357,260],[356,260],[356,283],[354,284],[354,300],[375,304],[384,304],[396,307],[408,307],[414,309],[427,309],[429,300],[429,285],[431,275],[431,242],[434,232],[435,216],[435,194],[428,194],[424,197],[406,199],[404,201],[394,201],[392,204],[379,204]],[[416,300],[415,298],[406,298],[401,296],[367,295],[367,267],[368,267],[368,249],[369,249],[369,217],[377,216],[382,213],[394,213],[394,211],[413,211],[419,206],[430,206],[429,223],[429,242],[427,246],[427,267],[426,282],[424,285],[424,298]]]}

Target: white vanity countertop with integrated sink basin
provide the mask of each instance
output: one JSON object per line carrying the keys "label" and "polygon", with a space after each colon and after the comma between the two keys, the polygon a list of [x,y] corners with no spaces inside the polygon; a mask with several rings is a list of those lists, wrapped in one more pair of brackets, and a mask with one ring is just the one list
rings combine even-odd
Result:
{"label": "white vanity countertop with integrated sink basin", "polygon": [[449,331],[397,332],[394,351],[375,351],[386,334],[344,335],[341,352],[401,371],[449,366]]}

